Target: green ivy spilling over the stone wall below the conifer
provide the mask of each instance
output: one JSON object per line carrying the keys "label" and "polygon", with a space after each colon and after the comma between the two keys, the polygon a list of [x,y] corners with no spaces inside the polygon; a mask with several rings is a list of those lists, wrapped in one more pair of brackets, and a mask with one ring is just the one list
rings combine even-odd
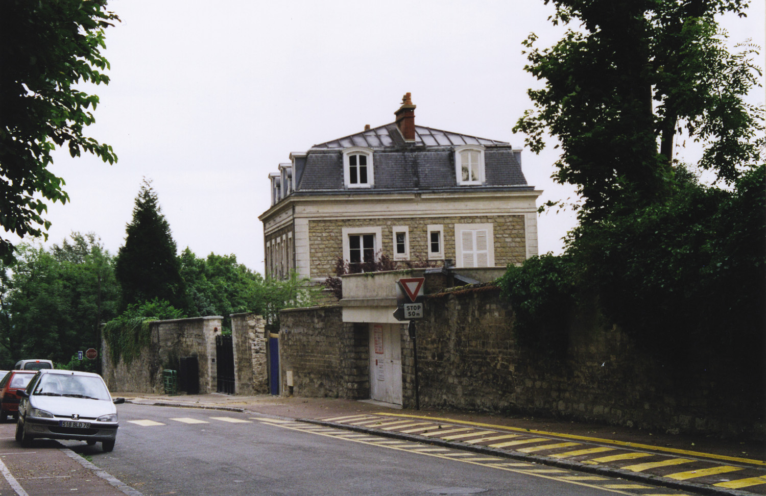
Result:
{"label": "green ivy spilling over the stone wall below the conifer", "polygon": [[116,365],[122,358],[125,364],[130,364],[133,358],[149,346],[152,341],[152,321],[185,317],[182,310],[160,299],[128,305],[125,312],[103,326],[103,340],[109,344],[112,363]]}

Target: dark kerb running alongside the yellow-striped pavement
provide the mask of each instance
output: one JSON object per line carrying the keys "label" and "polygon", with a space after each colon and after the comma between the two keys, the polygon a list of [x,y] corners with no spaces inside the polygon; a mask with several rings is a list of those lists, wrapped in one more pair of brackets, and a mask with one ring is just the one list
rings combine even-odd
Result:
{"label": "dark kerb running alongside the yellow-striped pavement", "polygon": [[514,452],[506,449],[489,448],[489,446],[470,445],[460,441],[447,441],[427,436],[417,436],[414,434],[403,434],[401,432],[384,431],[372,429],[364,426],[349,426],[348,424],[326,422],[317,419],[296,419],[298,422],[316,424],[318,426],[333,427],[335,429],[345,429],[354,432],[388,437],[391,439],[401,439],[403,441],[424,442],[430,445],[441,446],[444,448],[460,449],[462,451],[480,453],[483,455],[493,455],[502,458],[511,458],[522,462],[537,463],[539,465],[548,465],[556,468],[567,468],[576,472],[584,472],[594,475],[604,475],[611,478],[622,478],[627,481],[643,482],[647,485],[660,486],[663,488],[676,489],[679,491],[692,491],[709,496],[755,496],[755,493],[748,491],[738,491],[737,489],[715,488],[711,485],[699,484],[696,482],[673,481],[673,479],[663,478],[661,475],[647,475],[637,472],[630,472],[621,468],[610,468],[605,466],[587,465],[569,460],[550,458],[542,455],[530,455],[529,453]]}

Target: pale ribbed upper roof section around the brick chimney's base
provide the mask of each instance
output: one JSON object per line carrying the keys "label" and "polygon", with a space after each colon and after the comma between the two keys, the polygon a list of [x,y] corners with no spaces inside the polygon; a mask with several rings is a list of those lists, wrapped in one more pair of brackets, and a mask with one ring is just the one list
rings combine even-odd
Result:
{"label": "pale ribbed upper roof section around the brick chimney's base", "polygon": [[[313,145],[311,150],[322,150],[332,148],[351,148],[352,146],[363,146],[365,148],[393,148],[404,145],[404,139],[396,128],[396,124],[386,124],[378,126],[368,131],[357,132],[344,138],[333,139],[329,142]],[[458,132],[442,131],[425,126],[415,126],[414,146],[460,146],[460,145],[510,145],[507,142],[500,142],[494,139],[478,138],[476,136],[464,135]]]}

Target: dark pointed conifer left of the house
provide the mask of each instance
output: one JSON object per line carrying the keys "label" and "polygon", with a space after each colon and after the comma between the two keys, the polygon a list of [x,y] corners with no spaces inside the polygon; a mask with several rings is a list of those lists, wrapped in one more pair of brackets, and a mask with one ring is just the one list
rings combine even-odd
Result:
{"label": "dark pointed conifer left of the house", "polygon": [[115,266],[123,291],[122,308],[160,299],[174,308],[185,309],[186,289],[175,241],[152,182],[147,179],[136,196],[133,220],[127,225],[126,234]]}

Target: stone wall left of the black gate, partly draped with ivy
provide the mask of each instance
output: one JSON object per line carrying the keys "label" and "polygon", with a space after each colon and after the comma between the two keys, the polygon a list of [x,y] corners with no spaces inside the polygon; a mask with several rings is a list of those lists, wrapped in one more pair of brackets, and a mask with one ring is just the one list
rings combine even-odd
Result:
{"label": "stone wall left of the black gate, partly draped with ivy", "polygon": [[151,341],[138,357],[113,364],[109,344],[102,347],[102,371],[106,385],[126,393],[162,393],[162,370],[178,370],[181,357],[197,357],[199,392],[216,390],[215,334],[221,331],[220,316],[181,318],[151,323]]}

